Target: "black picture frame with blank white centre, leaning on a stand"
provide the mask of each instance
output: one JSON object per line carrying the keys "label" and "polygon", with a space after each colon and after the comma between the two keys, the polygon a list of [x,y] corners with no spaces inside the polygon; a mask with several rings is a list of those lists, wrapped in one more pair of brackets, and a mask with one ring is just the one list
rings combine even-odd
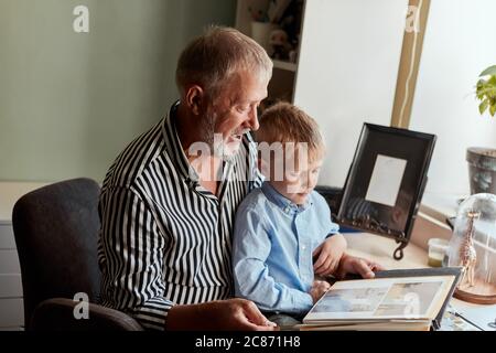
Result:
{"label": "black picture frame with blank white centre, leaning on a stand", "polygon": [[[395,239],[399,247],[393,257],[401,259],[427,184],[435,140],[434,135],[365,122],[346,178],[337,222]],[[393,181],[399,185],[396,202],[388,204],[370,196],[374,188],[379,190],[378,195],[382,189],[391,188],[384,180],[386,186],[375,186],[377,180],[381,182],[377,175],[388,172],[387,165],[400,165],[391,168],[391,174],[400,175],[403,171]],[[392,195],[395,191],[389,193],[389,200],[393,200]]]}

